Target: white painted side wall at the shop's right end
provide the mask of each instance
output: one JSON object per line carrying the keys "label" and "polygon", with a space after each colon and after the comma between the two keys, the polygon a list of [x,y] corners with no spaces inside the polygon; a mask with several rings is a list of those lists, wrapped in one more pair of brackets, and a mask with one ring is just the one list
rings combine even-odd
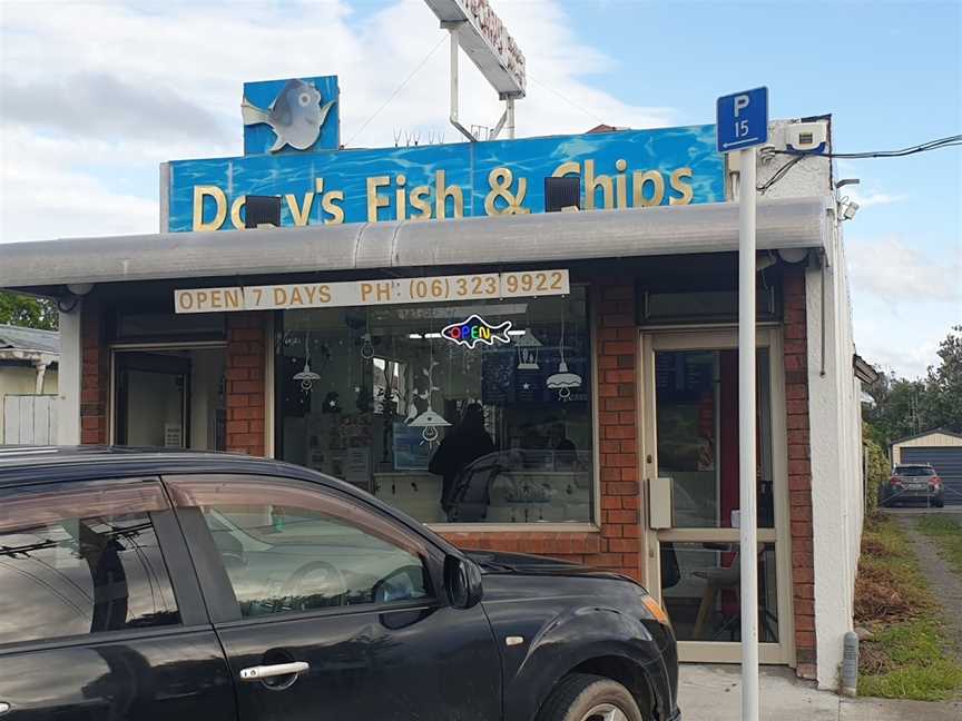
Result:
{"label": "white painted side wall at the shop's right end", "polygon": [[852,366],[852,306],[842,236],[838,231],[833,236],[824,270],[806,274],[806,305],[817,675],[821,688],[834,689],[843,636],[852,629],[864,504],[861,385]]}

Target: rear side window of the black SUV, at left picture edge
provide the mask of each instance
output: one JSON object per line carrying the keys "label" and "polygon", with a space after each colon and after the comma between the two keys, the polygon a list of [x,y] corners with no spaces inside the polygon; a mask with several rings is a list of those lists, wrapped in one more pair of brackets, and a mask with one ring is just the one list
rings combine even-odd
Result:
{"label": "rear side window of the black SUV, at left picture edge", "polygon": [[151,514],[159,482],[0,492],[0,644],[180,623]]}

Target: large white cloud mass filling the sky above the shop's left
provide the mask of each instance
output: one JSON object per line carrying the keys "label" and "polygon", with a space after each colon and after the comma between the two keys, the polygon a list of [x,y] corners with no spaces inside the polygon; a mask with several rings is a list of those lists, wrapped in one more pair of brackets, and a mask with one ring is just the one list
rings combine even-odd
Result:
{"label": "large white cloud mass filling the sky above the shop's left", "polygon": [[[586,80],[616,63],[578,40],[556,0],[499,0],[497,10],[531,79],[519,136],[580,132],[599,119],[673,122],[670,109],[625,103]],[[353,145],[391,146],[395,130],[458,140],[446,46],[354,137],[444,33],[423,0],[352,14],[345,0],[0,2],[0,240],[154,231],[146,172],[164,159],[239,155],[244,81],[338,75],[342,141]],[[501,105],[463,53],[461,63],[462,120],[493,126]]]}

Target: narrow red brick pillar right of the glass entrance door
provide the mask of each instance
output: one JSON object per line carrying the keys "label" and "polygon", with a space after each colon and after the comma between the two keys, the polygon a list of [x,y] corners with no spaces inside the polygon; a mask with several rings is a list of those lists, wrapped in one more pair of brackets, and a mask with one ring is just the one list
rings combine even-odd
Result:
{"label": "narrow red brick pillar right of the glass entrance door", "polygon": [[808,342],[805,270],[785,273],[785,405],[796,672],[816,678],[815,562],[812,542],[812,462],[808,432]]}

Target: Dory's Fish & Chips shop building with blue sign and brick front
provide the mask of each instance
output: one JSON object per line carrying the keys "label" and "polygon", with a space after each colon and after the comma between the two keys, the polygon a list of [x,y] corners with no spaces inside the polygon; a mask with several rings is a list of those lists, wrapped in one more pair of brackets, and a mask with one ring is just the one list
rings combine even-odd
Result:
{"label": "Dory's Fish & Chips shop building with blue sign and brick front", "polygon": [[[263,106],[285,87],[254,85]],[[797,125],[773,124],[773,146]],[[311,466],[458,544],[631,575],[684,660],[736,662],[737,169],[714,127],[245,141],[165,164],[158,234],[3,247],[0,286],[60,304],[61,442]],[[835,178],[818,157],[778,176],[785,161],[758,168],[760,659],[831,687],[861,389]],[[544,213],[559,176],[580,177],[581,211]],[[235,230],[248,195],[281,197],[282,227]],[[445,437],[472,462],[445,466]]]}

